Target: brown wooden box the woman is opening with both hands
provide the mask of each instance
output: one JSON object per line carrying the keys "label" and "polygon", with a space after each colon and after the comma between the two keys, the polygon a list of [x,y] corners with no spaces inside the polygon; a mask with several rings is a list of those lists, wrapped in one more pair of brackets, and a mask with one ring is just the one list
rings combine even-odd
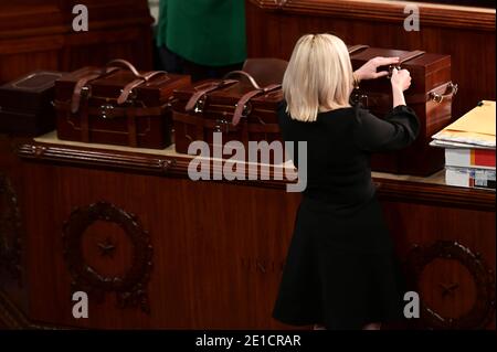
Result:
{"label": "brown wooden box the woman is opening with both hands", "polygon": [[[416,175],[442,170],[443,151],[430,147],[430,141],[452,119],[452,100],[457,93],[457,84],[451,81],[451,56],[364,46],[350,54],[353,70],[377,56],[399,57],[395,68],[405,68],[411,73],[412,85],[404,92],[405,103],[416,113],[421,125],[416,140],[405,150],[372,156],[372,170]],[[379,71],[391,72],[393,68],[379,67]],[[393,106],[389,77],[361,82],[352,92],[351,99],[380,118],[385,116]]]}

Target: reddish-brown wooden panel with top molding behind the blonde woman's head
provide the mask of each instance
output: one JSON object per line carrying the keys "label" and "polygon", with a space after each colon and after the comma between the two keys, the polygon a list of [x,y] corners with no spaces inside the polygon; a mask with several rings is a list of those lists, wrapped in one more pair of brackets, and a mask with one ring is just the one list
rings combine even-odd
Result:
{"label": "reddish-brown wooden panel with top molding behind the blonde woman's head", "polygon": [[247,0],[250,57],[288,60],[299,36],[330,32],[347,44],[423,50],[452,56],[459,90],[453,116],[495,100],[495,10],[420,4],[421,30],[403,29],[405,3],[343,0]]}

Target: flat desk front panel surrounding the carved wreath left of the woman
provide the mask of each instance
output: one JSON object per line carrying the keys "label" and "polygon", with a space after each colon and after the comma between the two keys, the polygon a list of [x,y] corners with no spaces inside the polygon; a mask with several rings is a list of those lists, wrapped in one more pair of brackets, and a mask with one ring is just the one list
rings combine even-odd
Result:
{"label": "flat desk front panel surrounding the carved wreath left of the woman", "polygon": [[[281,327],[272,321],[269,311],[298,196],[285,199],[277,190],[50,164],[29,163],[25,168],[45,184],[29,182],[27,196],[45,200],[43,207],[50,209],[50,213],[40,214],[40,204],[27,204],[30,215],[25,223],[33,234],[30,247],[36,248],[30,252],[28,263],[30,318],[92,328]],[[75,320],[71,314],[72,277],[61,255],[61,225],[74,207],[97,200],[137,214],[150,234],[150,314],[117,308],[113,292],[106,294],[102,303],[91,296],[89,319]],[[260,209],[263,203],[264,210]],[[207,212],[212,206],[215,211]],[[102,237],[98,241],[110,235],[102,224],[94,226],[93,232]],[[120,248],[126,245],[124,238],[117,241]],[[86,260],[106,260],[110,268],[125,265],[117,256],[102,258],[96,250]]]}

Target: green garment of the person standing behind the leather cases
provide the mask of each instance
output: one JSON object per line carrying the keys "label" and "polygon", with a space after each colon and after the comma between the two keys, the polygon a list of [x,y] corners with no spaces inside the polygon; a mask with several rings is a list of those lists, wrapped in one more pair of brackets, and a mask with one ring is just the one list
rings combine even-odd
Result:
{"label": "green garment of the person standing behind the leather cases", "polygon": [[244,0],[160,0],[157,45],[199,65],[246,58]]}

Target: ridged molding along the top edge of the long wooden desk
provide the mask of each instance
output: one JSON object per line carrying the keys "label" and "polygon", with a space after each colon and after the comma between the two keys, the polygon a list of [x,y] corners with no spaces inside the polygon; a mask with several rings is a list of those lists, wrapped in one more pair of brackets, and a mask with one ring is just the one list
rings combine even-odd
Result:
{"label": "ridged molding along the top edge of the long wooden desk", "polygon": [[[20,145],[17,148],[17,154],[23,160],[177,178],[189,178],[188,166],[192,160],[189,157],[152,156],[39,142]],[[277,168],[271,166],[268,170],[264,171],[266,173],[262,173],[263,170],[258,170],[256,180],[246,178],[246,180],[229,181],[223,179],[202,182],[221,182],[285,190],[290,182],[287,180],[275,180]],[[210,171],[214,172],[214,170],[212,168]],[[496,209],[496,193],[494,191],[387,178],[373,178],[373,182],[377,185],[379,198],[387,201],[417,202],[429,205],[489,212],[495,212]]]}

